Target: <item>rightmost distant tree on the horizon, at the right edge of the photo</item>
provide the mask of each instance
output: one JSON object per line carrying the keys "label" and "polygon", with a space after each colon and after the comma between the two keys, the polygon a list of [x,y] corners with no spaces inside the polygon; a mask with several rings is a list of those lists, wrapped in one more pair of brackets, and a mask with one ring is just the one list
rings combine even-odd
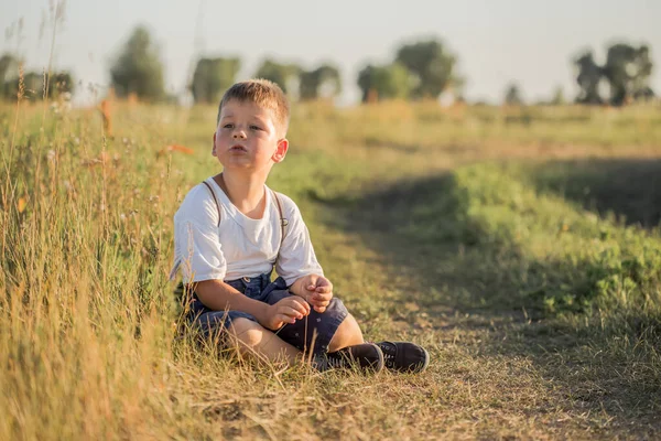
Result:
{"label": "rightmost distant tree on the horizon, at the right edge of the photo", "polygon": [[610,85],[610,104],[621,106],[653,95],[649,86],[652,66],[648,46],[617,43],[608,47],[603,72]]}

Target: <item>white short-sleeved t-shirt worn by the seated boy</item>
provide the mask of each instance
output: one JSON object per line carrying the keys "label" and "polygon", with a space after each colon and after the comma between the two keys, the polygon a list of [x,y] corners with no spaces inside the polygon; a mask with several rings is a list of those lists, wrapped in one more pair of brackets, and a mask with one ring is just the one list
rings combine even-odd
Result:
{"label": "white short-sleeved t-shirt worn by the seated boy", "polygon": [[[194,186],[174,215],[174,267],[182,268],[184,283],[203,280],[236,280],[275,271],[288,286],[302,276],[323,275],[307,227],[296,204],[278,193],[282,215],[289,220],[284,227],[282,247],[280,213],[273,193],[264,185],[267,206],[261,219],[251,219],[229,201],[213,180],[220,206],[220,225],[214,196],[205,184]],[[278,262],[278,249],[280,257]]]}

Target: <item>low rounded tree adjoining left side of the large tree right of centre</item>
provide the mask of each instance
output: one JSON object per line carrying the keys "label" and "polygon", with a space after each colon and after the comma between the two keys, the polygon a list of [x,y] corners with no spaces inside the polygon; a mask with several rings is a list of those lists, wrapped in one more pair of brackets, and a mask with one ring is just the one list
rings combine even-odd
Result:
{"label": "low rounded tree adjoining left side of the large tree right of centre", "polygon": [[409,71],[399,63],[387,66],[367,65],[358,73],[358,87],[362,90],[362,103],[376,99],[408,98],[410,87]]}

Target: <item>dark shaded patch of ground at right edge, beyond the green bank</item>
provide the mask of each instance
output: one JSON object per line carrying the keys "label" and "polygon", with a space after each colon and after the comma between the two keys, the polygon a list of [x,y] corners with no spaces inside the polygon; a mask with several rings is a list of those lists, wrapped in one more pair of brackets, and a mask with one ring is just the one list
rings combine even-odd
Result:
{"label": "dark shaded patch of ground at right edge, beyond the green bank", "polygon": [[661,160],[551,162],[535,173],[534,183],[602,216],[610,212],[643,228],[661,222]]}

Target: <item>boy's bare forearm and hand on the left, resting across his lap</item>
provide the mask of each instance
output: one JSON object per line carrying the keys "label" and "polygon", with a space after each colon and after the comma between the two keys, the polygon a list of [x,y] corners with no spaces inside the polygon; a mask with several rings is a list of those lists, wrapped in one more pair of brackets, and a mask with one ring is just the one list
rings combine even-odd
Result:
{"label": "boy's bare forearm and hand on the left, resting across his lap", "polygon": [[250,299],[223,280],[204,280],[195,283],[197,297],[210,310],[237,310],[253,315],[264,327],[275,330],[284,323],[294,323],[310,313],[310,305],[294,298],[271,305]]}

